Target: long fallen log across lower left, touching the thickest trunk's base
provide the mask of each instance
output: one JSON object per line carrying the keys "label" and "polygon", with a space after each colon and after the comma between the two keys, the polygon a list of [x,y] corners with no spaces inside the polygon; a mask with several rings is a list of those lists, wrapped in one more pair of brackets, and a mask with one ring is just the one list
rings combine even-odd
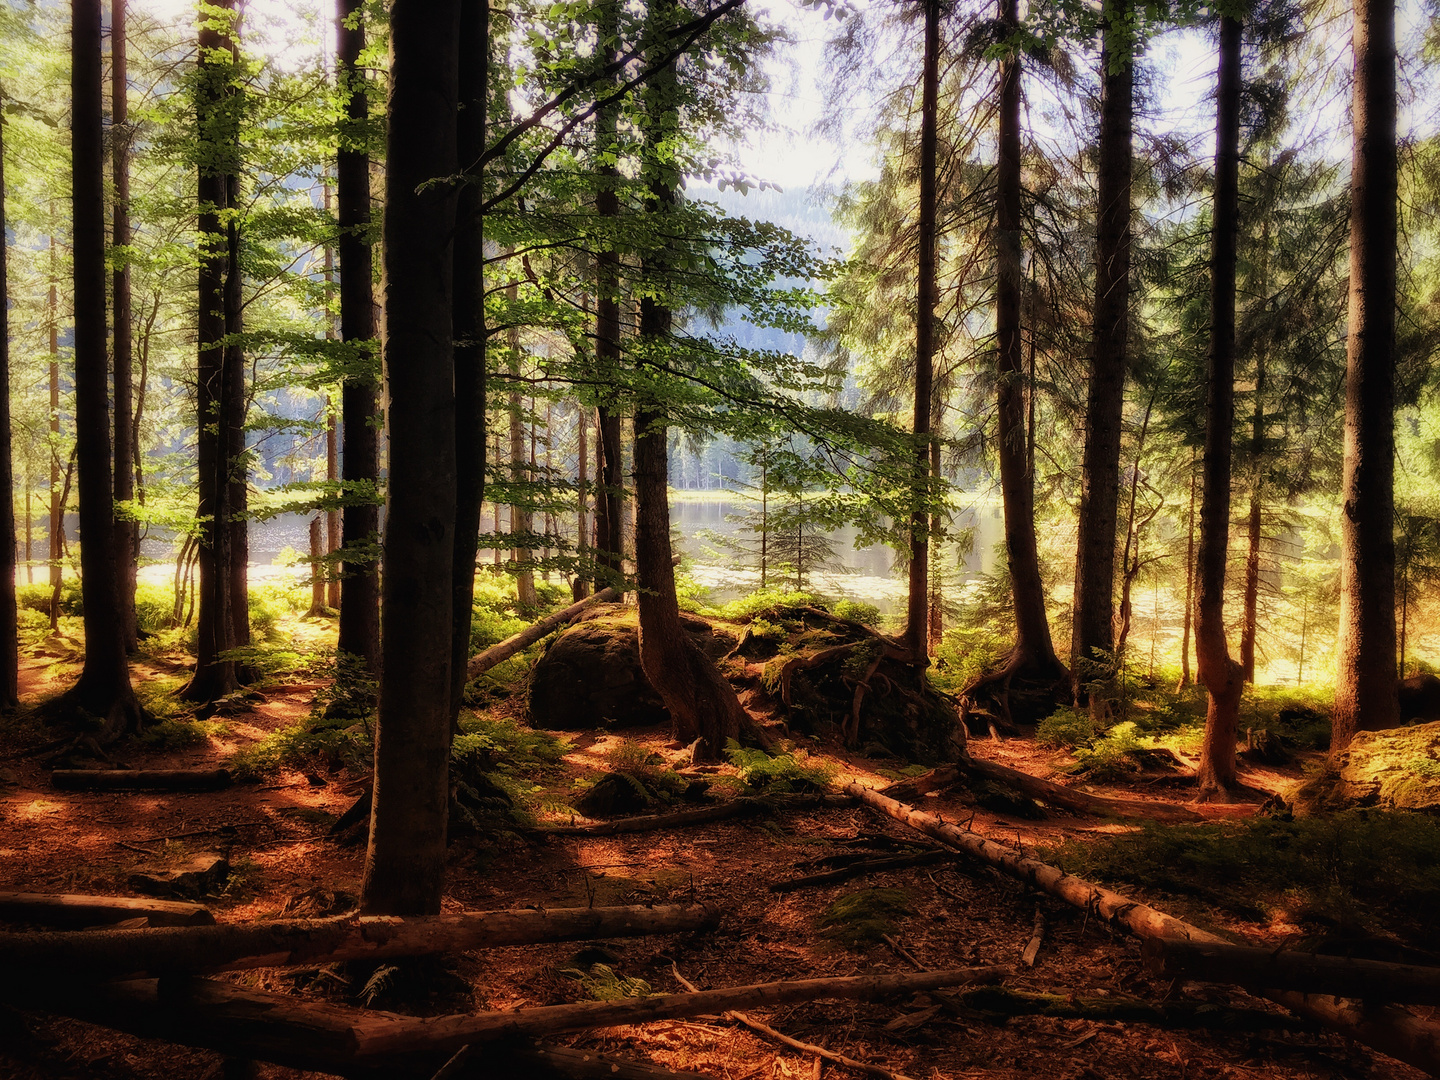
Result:
{"label": "long fallen log across lower left, touching the thickest trunk's base", "polygon": [[82,933],[0,933],[0,972],[71,978],[387,960],[464,949],[683,933],[717,926],[710,904],[468,912],[415,919],[343,916]]}

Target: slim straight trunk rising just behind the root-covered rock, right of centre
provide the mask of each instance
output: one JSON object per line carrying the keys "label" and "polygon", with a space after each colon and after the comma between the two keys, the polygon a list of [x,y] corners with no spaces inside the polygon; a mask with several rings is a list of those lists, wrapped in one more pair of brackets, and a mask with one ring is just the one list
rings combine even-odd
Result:
{"label": "slim straight trunk rising just behind the root-covered rock, right of centre", "polygon": [[910,511],[910,583],[906,598],[904,642],[917,664],[929,662],[926,648],[930,577],[930,539],[926,508],[922,503],[930,488],[930,397],[935,383],[935,307],[936,307],[936,157],[939,135],[936,112],[940,96],[940,0],[924,4],[924,66],[920,76],[920,223],[919,298],[914,315],[914,482]]}

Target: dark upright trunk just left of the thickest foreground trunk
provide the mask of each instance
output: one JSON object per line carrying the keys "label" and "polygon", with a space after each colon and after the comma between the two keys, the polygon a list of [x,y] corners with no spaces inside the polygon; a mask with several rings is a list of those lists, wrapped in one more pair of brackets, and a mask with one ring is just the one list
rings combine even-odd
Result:
{"label": "dark upright trunk just left of the thickest foreground trunk", "polygon": [[[346,137],[336,156],[336,203],[340,223],[340,337],[350,347],[374,344],[373,264],[370,251],[370,154],[364,130],[370,107],[364,95],[360,53],[364,49],[363,0],[338,0],[336,27],[336,76],[346,98]],[[377,369],[376,369],[377,370]],[[341,480],[346,505],[341,511],[341,540],[351,557],[340,572],[344,590],[340,603],[337,648],[360,657],[372,672],[380,671],[380,563],[354,553],[373,547],[380,534],[376,485],[380,477],[379,413],[380,383],[374,376],[353,374],[340,390],[344,452]]]}

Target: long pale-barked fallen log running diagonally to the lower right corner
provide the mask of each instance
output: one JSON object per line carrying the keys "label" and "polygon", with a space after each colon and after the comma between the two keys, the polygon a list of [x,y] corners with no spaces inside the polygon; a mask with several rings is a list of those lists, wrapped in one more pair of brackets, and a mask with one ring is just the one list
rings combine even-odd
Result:
{"label": "long pale-barked fallen log running diagonally to the lower right corner", "polygon": [[[1223,937],[1168,916],[1149,904],[1142,904],[1112,888],[1067,874],[1047,863],[1027,858],[1014,848],[996,844],[976,832],[948,825],[933,814],[887,799],[870,788],[847,783],[844,792],[927,837],[950,844],[1028,886],[1089,912],[1092,917],[1109,926],[1133,933],[1142,940],[1174,937],[1230,945]],[[1440,1024],[1420,1020],[1394,1005],[1361,1008],[1345,999],[1322,994],[1299,994],[1269,988],[1263,991],[1263,995],[1284,1005],[1292,1012],[1332,1027],[1358,1043],[1416,1066],[1431,1076],[1440,1076]]]}

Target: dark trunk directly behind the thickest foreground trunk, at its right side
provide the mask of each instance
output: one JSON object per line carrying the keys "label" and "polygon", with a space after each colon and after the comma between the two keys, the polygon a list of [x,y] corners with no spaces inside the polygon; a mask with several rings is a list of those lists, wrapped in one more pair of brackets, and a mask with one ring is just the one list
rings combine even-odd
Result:
{"label": "dark trunk directly behind the thickest foreground trunk, at its right side", "polygon": [[[461,1],[456,153],[469,168],[485,151],[490,0]],[[459,720],[475,602],[480,511],[485,500],[485,251],[481,174],[461,184],[455,207],[455,563],[451,599],[451,723]]]}

